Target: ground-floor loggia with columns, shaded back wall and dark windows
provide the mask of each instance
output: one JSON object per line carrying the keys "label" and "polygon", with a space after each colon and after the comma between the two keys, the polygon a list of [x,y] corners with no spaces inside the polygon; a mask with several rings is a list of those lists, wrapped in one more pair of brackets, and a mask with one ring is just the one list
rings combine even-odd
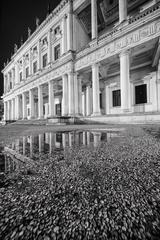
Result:
{"label": "ground-floor loggia with columns, shaded back wall and dark windows", "polygon": [[5,120],[158,113],[157,42],[153,39],[14,96],[4,102]]}

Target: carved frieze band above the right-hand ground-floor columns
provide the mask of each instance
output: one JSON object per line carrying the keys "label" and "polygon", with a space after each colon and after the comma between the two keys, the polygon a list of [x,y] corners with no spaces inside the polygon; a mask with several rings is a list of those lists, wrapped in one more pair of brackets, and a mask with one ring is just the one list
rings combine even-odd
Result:
{"label": "carved frieze band above the right-hand ground-floor columns", "polygon": [[160,33],[160,21],[151,23],[148,26],[129,33],[125,37],[122,37],[118,40],[113,40],[112,43],[109,43],[106,46],[95,50],[95,52],[93,53],[87,54],[87,56],[84,56],[80,60],[77,60],[75,64],[75,69],[76,71],[78,71],[81,68],[90,66],[95,62],[101,61],[114,54],[117,54],[124,48],[132,48],[133,46],[135,46],[136,43],[148,41],[152,39],[153,36],[159,36],[158,33]]}

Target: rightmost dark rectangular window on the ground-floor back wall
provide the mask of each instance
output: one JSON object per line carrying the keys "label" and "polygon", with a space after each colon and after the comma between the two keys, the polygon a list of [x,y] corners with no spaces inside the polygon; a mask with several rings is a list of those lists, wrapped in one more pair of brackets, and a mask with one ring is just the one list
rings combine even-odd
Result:
{"label": "rightmost dark rectangular window on the ground-floor back wall", "polygon": [[135,86],[136,104],[147,103],[147,84]]}

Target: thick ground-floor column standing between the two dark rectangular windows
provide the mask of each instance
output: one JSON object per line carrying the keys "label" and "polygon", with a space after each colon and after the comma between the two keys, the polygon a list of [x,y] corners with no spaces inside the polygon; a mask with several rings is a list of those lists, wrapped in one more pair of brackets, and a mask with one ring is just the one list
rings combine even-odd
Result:
{"label": "thick ground-floor column standing between the two dark rectangular windows", "polygon": [[121,85],[121,109],[128,111],[131,107],[130,77],[129,77],[129,52],[120,54],[120,85]]}

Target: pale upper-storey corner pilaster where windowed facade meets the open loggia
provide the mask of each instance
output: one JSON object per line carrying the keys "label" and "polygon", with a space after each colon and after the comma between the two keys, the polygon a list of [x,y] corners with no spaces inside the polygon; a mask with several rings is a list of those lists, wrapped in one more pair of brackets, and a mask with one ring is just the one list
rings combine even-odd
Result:
{"label": "pale upper-storey corner pilaster where windowed facade meets the open loggia", "polygon": [[73,50],[73,2],[70,1],[70,9],[67,15],[67,50]]}

